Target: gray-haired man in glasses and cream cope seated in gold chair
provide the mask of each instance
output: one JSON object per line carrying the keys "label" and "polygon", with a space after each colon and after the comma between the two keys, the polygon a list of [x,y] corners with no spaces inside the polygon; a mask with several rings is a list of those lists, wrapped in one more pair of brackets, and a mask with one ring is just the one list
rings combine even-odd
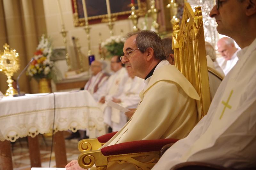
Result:
{"label": "gray-haired man in glasses and cream cope seated in gold chair", "polygon": [[[136,140],[182,139],[199,120],[194,87],[181,72],[165,60],[163,42],[153,31],[142,30],[125,36],[122,63],[144,79],[140,104],[132,118],[102,147]],[[114,163],[108,169],[130,169],[131,164]],[[66,168],[76,169],[77,160]],[[136,167],[132,166],[132,169]]]}

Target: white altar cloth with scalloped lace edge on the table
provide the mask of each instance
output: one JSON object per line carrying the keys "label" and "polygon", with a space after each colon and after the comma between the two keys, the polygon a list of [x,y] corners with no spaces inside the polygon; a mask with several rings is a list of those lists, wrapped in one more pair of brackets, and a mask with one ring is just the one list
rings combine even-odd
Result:
{"label": "white altar cloth with scalloped lace edge on the table", "polygon": [[54,98],[54,132],[96,129],[105,133],[103,112],[88,91],[40,93],[0,100],[0,141],[52,132]]}

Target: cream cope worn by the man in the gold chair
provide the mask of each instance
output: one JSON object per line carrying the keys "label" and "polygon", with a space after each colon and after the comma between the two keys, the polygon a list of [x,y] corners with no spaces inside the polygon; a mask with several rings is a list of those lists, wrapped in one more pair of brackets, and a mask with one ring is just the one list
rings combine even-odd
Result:
{"label": "cream cope worn by the man in the gold chair", "polygon": [[[132,118],[102,147],[136,140],[181,139],[198,122],[194,87],[173,65],[161,61],[148,85],[140,92],[141,102]],[[113,164],[108,169],[134,169],[131,164]],[[136,169],[136,168],[135,168]]]}

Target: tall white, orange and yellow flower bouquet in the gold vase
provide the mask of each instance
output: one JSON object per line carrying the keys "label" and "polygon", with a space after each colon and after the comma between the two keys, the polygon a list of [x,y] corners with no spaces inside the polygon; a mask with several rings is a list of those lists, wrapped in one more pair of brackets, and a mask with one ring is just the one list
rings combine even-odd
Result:
{"label": "tall white, orange and yellow flower bouquet in the gold vase", "polygon": [[52,55],[52,43],[43,34],[34,53],[34,60],[27,69],[27,75],[39,81],[42,78],[52,78],[53,62],[50,61]]}

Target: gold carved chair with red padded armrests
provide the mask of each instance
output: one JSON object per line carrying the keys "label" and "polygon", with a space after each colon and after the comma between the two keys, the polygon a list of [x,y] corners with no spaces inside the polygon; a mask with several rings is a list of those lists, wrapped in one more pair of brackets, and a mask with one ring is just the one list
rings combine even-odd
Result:
{"label": "gold carved chair with red padded armrests", "polygon": [[[185,4],[181,26],[179,27],[178,23],[174,25],[173,48],[177,68],[200,96],[201,101],[197,103],[197,110],[202,118],[208,111],[211,99],[201,7],[196,7],[194,13],[190,5]],[[78,149],[82,152],[78,157],[79,165],[82,168],[90,168],[95,164],[97,169],[107,169],[109,163],[116,162],[132,163],[137,169],[151,169],[159,159],[161,148],[178,141],[177,139],[132,141],[98,150],[114,134],[115,132],[107,134],[103,137],[104,140],[103,138],[81,140],[78,145]],[[138,159],[149,157],[148,160]]]}

